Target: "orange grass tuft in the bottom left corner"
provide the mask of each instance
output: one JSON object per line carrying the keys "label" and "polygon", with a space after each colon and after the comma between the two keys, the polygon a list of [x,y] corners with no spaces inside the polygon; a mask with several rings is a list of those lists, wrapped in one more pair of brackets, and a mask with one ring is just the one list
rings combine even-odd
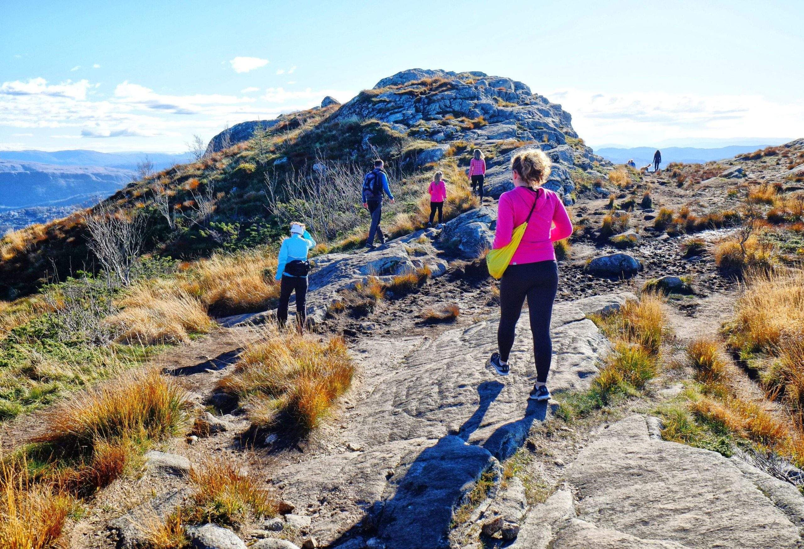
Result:
{"label": "orange grass tuft in the bottom left corner", "polygon": [[0,547],[59,547],[72,498],[51,484],[35,484],[24,461],[0,461]]}

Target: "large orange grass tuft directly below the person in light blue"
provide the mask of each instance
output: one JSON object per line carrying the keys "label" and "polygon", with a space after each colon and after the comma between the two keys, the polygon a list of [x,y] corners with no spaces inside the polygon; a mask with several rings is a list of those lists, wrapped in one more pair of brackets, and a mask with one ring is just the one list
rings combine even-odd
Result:
{"label": "large orange grass tuft directly below the person in light blue", "polygon": [[285,417],[309,430],[318,426],[334,399],[351,384],[354,366],[342,338],[318,338],[270,327],[265,338],[246,347],[235,372],[219,387],[248,401],[258,427]]}

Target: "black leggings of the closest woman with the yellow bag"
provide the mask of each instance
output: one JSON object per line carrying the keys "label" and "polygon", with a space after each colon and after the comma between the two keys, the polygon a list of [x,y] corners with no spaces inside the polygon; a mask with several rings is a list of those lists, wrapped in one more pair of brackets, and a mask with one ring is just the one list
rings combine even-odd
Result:
{"label": "black leggings of the closest woman with the yellow bag", "polygon": [[508,361],[514,346],[516,322],[527,297],[528,313],[533,332],[533,355],[536,361],[536,381],[546,383],[552,358],[550,317],[558,290],[558,264],[555,261],[537,261],[508,265],[500,281],[500,324],[497,345],[500,359]]}

